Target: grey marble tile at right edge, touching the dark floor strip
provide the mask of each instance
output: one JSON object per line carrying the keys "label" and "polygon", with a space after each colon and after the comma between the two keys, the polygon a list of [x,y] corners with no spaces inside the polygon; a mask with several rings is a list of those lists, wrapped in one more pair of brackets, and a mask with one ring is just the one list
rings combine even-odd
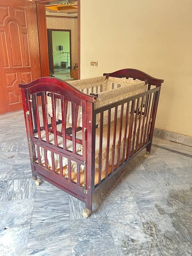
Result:
{"label": "grey marble tile at right edge, touching the dark floor strip", "polygon": [[185,167],[192,166],[192,158],[188,156],[182,156],[176,153],[172,153],[170,151],[158,148],[156,150],[156,154],[158,154],[161,159],[169,166],[169,167]]}

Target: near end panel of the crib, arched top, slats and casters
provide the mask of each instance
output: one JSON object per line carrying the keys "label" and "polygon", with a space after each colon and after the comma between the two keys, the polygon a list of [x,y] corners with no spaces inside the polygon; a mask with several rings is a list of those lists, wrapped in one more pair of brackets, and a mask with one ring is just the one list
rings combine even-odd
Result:
{"label": "near end panel of the crib, arched top, slats and casters", "polygon": [[[94,157],[92,109],[96,98],[60,79],[44,77],[20,84],[33,179],[37,176],[75,196],[92,211]],[[47,102],[51,99],[52,117]],[[62,120],[56,116],[60,105]],[[68,106],[71,124],[67,123]],[[82,127],[77,126],[82,109]],[[75,166],[75,172],[74,170]],[[87,171],[88,170],[88,171]]]}

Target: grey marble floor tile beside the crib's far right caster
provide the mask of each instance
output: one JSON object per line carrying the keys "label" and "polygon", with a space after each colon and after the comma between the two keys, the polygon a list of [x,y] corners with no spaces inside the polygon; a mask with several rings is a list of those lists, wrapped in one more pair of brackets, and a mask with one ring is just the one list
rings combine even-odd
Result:
{"label": "grey marble floor tile beside the crib's far right caster", "polygon": [[168,168],[167,164],[165,164],[165,162],[155,152],[156,152],[156,148],[152,147],[151,154],[148,156],[148,158],[143,157],[145,150],[142,150],[137,157],[146,170],[167,169]]}

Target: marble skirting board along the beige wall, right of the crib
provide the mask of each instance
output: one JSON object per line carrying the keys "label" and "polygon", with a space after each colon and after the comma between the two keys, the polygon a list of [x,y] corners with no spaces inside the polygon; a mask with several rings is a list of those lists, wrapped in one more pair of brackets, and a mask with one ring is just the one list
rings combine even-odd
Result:
{"label": "marble skirting board along the beige wall, right of the crib", "polygon": [[154,136],[162,138],[162,139],[168,139],[180,144],[192,146],[192,137],[182,135],[175,132],[168,132],[161,129],[154,129]]}

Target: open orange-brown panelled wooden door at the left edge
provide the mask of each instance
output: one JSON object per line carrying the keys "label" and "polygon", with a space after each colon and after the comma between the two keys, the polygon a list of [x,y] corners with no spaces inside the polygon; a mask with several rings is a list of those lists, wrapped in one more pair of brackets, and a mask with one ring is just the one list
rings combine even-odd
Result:
{"label": "open orange-brown panelled wooden door at the left edge", "polygon": [[0,1],[0,114],[22,109],[19,83],[41,77],[36,4]]}

